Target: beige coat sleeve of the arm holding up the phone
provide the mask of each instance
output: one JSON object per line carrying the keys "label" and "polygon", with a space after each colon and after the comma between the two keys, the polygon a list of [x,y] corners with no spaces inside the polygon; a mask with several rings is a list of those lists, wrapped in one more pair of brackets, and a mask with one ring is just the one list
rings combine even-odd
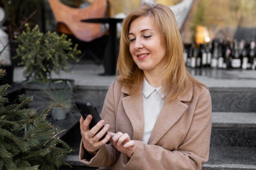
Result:
{"label": "beige coat sleeve of the arm holding up the phone", "polygon": [[[108,89],[102,112],[101,118],[105,120],[106,124],[110,124],[108,132],[115,132],[115,101],[114,101],[114,86],[112,83]],[[83,148],[83,141],[80,145],[79,159],[82,163],[92,167],[111,166],[117,158],[120,152],[116,150],[112,145],[105,144],[99,148],[97,154],[94,157],[90,157],[88,152]]]}

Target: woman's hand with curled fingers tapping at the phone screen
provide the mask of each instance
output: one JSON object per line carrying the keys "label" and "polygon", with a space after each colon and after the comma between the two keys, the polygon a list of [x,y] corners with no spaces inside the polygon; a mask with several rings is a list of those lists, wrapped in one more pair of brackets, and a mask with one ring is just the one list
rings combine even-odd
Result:
{"label": "woman's hand with curled fingers tapping at the phone screen", "polygon": [[111,144],[120,152],[132,157],[135,151],[135,142],[130,140],[127,133],[117,132],[111,133],[112,138],[110,138]]}

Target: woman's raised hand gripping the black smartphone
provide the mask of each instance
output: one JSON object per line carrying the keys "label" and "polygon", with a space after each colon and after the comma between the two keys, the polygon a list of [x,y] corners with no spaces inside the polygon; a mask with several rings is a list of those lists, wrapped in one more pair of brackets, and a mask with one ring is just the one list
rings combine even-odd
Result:
{"label": "woman's raised hand gripping the black smartphone", "polygon": [[[92,121],[92,115],[88,115],[84,120],[83,117],[80,118],[80,130],[83,140],[83,147],[91,155],[96,155],[97,151],[101,146],[106,144],[110,139],[111,135],[108,133],[106,137],[102,140],[101,137],[108,131],[109,124],[106,124],[104,128],[99,131],[99,129],[105,124],[104,120],[99,121],[92,129],[89,129],[90,122]],[[99,133],[97,133],[99,131]],[[97,134],[96,134],[97,133]]]}

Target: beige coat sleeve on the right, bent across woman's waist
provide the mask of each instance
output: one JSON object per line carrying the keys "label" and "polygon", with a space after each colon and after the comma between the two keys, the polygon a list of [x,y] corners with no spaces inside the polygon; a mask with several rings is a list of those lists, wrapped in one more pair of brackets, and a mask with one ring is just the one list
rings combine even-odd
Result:
{"label": "beige coat sleeve on the right, bent across woman's waist", "polygon": [[121,154],[124,170],[201,170],[208,160],[211,136],[211,97],[205,88],[196,102],[191,126],[182,145],[177,150],[135,141],[135,152],[127,161]]}

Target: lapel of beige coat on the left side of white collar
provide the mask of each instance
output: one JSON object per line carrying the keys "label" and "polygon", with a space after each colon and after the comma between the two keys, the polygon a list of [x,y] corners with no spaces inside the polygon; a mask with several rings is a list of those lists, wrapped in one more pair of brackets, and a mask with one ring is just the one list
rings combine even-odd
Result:
{"label": "lapel of beige coat on the left side of white collar", "polygon": [[[123,87],[122,92],[128,94],[128,90]],[[133,140],[143,139],[144,132],[144,111],[143,111],[143,96],[142,89],[141,93],[137,93],[135,95],[128,95],[127,97],[122,98],[123,106],[126,115],[130,119],[132,124],[133,131]]]}

